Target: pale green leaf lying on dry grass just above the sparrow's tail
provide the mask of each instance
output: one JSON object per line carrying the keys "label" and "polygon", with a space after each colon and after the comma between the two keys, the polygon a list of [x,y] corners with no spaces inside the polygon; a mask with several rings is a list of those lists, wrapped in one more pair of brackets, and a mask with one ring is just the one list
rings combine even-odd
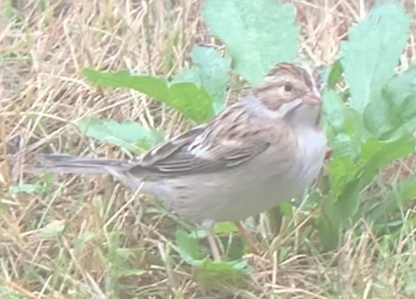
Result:
{"label": "pale green leaf lying on dry grass just above the sparrow's tail", "polygon": [[[88,137],[93,137],[99,142],[110,142],[133,152],[140,152],[140,148],[147,150],[162,140],[158,131],[146,129],[133,121],[120,123],[113,119],[85,117],[76,125]],[[137,144],[139,148],[133,144]]]}

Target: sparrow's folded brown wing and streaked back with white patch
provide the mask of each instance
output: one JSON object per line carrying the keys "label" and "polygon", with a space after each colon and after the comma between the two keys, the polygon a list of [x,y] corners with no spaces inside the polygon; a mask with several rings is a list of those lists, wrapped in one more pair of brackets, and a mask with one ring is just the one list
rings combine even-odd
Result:
{"label": "sparrow's folded brown wing and streaked back with white patch", "polygon": [[236,167],[269,147],[239,104],[205,126],[196,127],[149,151],[131,173],[188,175]]}

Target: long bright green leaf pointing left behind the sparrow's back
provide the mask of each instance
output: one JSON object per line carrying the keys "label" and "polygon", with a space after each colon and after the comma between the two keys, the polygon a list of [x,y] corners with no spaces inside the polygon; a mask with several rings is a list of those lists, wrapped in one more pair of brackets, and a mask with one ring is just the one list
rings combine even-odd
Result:
{"label": "long bright green leaf pointing left behind the sparrow's back", "polygon": [[169,83],[164,78],[132,75],[127,71],[105,72],[84,69],[83,75],[92,83],[107,87],[124,87],[143,92],[161,100],[197,123],[214,116],[212,97],[204,88],[191,82]]}

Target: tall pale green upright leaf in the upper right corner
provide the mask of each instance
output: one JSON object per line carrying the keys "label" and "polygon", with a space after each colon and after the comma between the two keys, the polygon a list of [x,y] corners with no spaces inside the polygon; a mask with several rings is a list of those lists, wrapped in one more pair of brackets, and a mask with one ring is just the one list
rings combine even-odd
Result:
{"label": "tall pale green upright leaf in the upper right corner", "polygon": [[341,43],[341,63],[350,86],[351,107],[362,113],[381,96],[407,41],[410,18],[399,2],[380,2]]}

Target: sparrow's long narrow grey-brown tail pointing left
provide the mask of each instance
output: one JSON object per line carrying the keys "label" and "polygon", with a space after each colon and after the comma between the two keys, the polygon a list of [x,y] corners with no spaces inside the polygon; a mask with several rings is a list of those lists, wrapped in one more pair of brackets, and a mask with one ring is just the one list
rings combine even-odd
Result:
{"label": "sparrow's long narrow grey-brown tail pointing left", "polygon": [[73,173],[73,174],[120,174],[134,165],[129,161],[72,157],[69,155],[42,154],[36,156],[37,163],[30,165],[30,173]]}

